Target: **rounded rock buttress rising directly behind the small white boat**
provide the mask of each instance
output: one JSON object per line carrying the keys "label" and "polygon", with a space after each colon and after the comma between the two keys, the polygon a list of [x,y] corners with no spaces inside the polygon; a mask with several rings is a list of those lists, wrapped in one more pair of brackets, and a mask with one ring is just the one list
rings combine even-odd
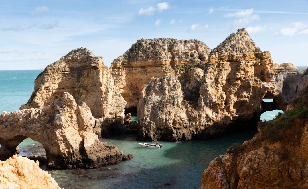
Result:
{"label": "rounded rock buttress rising directly behind the small white boat", "polygon": [[[137,140],[173,140],[190,136],[181,84],[175,77],[152,78],[138,104],[140,133]],[[185,139],[184,139],[185,140]]]}

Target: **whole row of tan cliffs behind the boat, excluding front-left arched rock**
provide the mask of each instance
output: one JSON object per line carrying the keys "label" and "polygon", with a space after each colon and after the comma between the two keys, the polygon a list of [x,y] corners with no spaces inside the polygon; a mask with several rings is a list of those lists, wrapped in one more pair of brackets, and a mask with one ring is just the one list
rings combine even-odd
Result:
{"label": "whole row of tan cliffs behind the boat, excluding front-left arched rock", "polygon": [[[198,40],[141,39],[110,70],[87,49],[71,51],[37,77],[21,109],[44,108],[68,92],[90,108],[99,137],[139,129],[139,140],[208,139],[255,126],[250,123],[265,110],[285,110],[307,75],[291,64],[273,64],[245,29],[213,50]],[[124,121],[124,108],[137,105],[139,128]]]}

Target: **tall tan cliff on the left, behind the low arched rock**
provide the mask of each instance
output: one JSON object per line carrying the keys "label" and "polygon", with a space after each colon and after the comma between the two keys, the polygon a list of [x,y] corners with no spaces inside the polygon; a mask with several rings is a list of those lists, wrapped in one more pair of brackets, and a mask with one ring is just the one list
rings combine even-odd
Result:
{"label": "tall tan cliff on the left, behind the low arched rock", "polygon": [[123,125],[126,101],[115,88],[103,57],[81,47],[48,65],[35,79],[34,92],[20,109],[45,108],[64,92],[70,93],[77,105],[86,104],[94,117],[102,117],[103,125]]}

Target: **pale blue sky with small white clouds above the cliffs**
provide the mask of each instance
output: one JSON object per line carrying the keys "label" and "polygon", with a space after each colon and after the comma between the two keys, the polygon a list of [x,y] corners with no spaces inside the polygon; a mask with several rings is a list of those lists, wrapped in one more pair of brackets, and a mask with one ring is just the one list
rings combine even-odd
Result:
{"label": "pale blue sky with small white clouds above the cliffs", "polygon": [[274,63],[308,66],[308,0],[0,0],[0,70],[44,69],[72,49],[113,59],[137,39],[198,39],[211,49],[239,28]]}

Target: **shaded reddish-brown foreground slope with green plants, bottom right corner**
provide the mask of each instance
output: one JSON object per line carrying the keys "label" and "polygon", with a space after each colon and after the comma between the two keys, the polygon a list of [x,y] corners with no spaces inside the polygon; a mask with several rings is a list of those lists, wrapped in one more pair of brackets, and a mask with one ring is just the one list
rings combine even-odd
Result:
{"label": "shaded reddish-brown foreground slope with green plants, bottom right corner", "polygon": [[210,162],[201,189],[308,188],[308,88],[243,145]]}

